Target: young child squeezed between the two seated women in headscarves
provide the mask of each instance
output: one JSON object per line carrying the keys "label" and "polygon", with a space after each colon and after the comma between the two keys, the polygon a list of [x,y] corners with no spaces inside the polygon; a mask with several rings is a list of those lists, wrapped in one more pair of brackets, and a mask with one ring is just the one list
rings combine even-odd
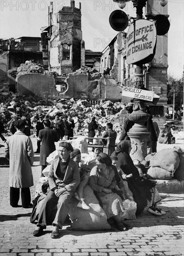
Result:
{"label": "young child squeezed between the two seated women in headscarves", "polygon": [[133,175],[126,175],[121,168],[118,166],[118,157],[112,155],[111,156],[112,164],[117,168],[118,175],[121,177],[121,181],[119,182],[119,188],[123,192],[123,196],[125,199],[133,200],[133,194],[128,187],[127,179],[131,178]]}

